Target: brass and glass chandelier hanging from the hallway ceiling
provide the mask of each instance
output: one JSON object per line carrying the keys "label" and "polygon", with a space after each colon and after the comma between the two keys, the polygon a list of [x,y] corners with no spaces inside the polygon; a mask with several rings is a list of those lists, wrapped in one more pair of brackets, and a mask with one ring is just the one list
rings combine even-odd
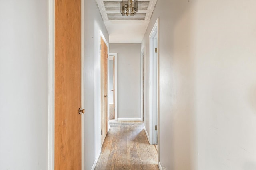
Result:
{"label": "brass and glass chandelier hanging from the hallway ceiling", "polygon": [[138,0],[121,0],[121,14],[134,16],[138,11]]}

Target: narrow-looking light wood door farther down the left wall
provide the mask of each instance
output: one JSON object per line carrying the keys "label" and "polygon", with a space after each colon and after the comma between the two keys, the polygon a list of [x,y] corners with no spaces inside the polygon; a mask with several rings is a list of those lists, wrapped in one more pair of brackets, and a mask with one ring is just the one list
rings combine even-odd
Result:
{"label": "narrow-looking light wood door farther down the left wall", "polygon": [[108,47],[104,40],[100,41],[101,65],[101,143],[108,133]]}

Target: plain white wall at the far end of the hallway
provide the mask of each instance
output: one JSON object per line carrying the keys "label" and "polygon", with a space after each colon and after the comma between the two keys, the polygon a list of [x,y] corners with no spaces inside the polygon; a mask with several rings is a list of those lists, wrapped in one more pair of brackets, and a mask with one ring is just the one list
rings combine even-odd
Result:
{"label": "plain white wall at the far end of the hallway", "polygon": [[117,53],[118,118],[140,118],[141,44],[110,44]]}

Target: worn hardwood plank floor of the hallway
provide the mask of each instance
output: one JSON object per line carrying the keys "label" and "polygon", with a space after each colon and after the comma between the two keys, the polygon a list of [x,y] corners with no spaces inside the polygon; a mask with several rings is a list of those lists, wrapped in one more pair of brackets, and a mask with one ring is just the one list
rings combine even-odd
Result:
{"label": "worn hardwood plank floor of the hallway", "polygon": [[110,121],[95,170],[159,170],[141,121]]}

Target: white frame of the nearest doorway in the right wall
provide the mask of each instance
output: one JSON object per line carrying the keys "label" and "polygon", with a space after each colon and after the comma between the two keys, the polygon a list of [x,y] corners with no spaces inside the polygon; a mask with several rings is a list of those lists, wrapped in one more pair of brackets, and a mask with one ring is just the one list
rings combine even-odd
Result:
{"label": "white frame of the nearest doorway in the right wall", "polygon": [[160,123],[159,123],[159,18],[156,20],[154,27],[152,28],[152,31],[149,35],[149,59],[150,59],[150,88],[149,88],[149,94],[150,94],[150,105],[152,104],[152,93],[153,93],[153,88],[152,88],[152,74],[153,74],[153,51],[154,51],[154,46],[153,46],[153,39],[157,36],[157,102],[156,102],[156,107],[157,107],[157,121],[155,120],[154,114],[152,107],[149,108],[149,125],[150,125],[150,144],[153,144],[153,137],[154,137],[154,122],[157,122],[157,145],[158,145],[158,162],[159,162],[159,132],[160,132]]}

